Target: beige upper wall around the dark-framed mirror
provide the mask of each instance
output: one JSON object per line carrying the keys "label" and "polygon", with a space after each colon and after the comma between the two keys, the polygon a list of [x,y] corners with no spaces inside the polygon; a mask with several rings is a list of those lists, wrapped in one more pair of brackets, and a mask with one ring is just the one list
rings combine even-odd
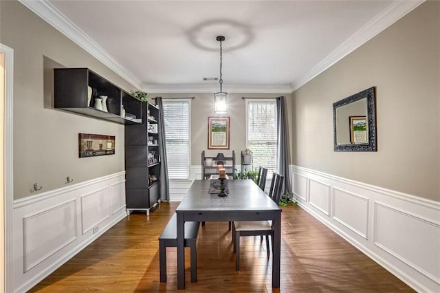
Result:
{"label": "beige upper wall around the dark-framed mirror", "polygon": [[[332,103],[371,86],[377,152],[334,152]],[[440,200],[439,1],[421,4],[292,98],[293,164]]]}

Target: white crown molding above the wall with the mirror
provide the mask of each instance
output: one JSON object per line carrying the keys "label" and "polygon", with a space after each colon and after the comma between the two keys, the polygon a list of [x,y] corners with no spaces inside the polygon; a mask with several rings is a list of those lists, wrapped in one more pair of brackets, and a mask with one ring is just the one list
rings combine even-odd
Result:
{"label": "white crown molding above the wall with the mirror", "polygon": [[309,70],[298,80],[290,85],[292,91],[296,91],[310,80],[321,74],[331,65],[337,63],[342,58],[358,49],[367,41],[373,39],[374,36],[388,28],[390,25],[404,17],[410,11],[414,10],[426,0],[396,0],[391,3],[386,10],[378,14],[374,19],[362,26],[357,32],[352,34],[349,39],[339,45],[336,50],[331,52],[329,56],[324,58],[318,65]]}

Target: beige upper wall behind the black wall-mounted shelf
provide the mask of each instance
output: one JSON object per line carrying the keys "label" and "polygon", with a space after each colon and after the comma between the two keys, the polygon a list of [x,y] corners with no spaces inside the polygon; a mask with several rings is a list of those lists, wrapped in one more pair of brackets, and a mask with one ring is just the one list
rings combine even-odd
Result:
{"label": "beige upper wall behind the black wall-mounted shelf", "polygon": [[[0,1],[0,43],[14,50],[14,199],[124,171],[124,126],[53,109],[53,71],[89,67],[134,87],[17,1]],[[78,133],[115,135],[115,155],[78,158]]]}

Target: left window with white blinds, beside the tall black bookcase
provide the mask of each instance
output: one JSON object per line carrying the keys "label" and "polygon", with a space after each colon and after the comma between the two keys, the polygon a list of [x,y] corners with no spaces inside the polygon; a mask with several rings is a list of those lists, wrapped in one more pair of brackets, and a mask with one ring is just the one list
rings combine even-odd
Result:
{"label": "left window with white blinds, beside the tall black bookcase", "polygon": [[190,99],[164,99],[164,129],[168,176],[188,179],[190,174]]}

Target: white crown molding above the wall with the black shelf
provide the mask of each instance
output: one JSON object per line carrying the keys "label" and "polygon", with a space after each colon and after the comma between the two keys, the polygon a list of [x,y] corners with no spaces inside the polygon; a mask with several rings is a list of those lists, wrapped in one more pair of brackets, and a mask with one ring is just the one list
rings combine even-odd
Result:
{"label": "white crown molding above the wall with the black shelf", "polygon": [[64,14],[57,10],[47,0],[19,0],[25,7],[41,17],[44,21],[52,25],[56,30],[67,36],[82,47],[86,52],[94,56],[101,63],[109,67],[113,72],[124,78],[137,88],[142,88],[142,83],[128,69],[123,67],[109,53],[107,53],[98,43],[91,39],[83,30],[78,28]]}

